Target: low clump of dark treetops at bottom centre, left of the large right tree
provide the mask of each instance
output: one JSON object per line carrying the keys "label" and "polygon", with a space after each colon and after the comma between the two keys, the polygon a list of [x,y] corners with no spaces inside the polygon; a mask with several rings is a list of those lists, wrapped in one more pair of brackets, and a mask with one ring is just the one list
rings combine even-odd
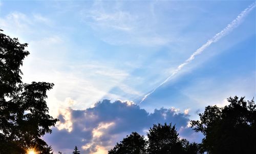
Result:
{"label": "low clump of dark treetops at bottom centre, left of the large right tree", "polygon": [[189,143],[187,140],[179,139],[175,126],[154,124],[147,133],[148,141],[138,133],[133,132],[126,136],[120,143],[109,151],[109,154],[140,154],[140,153],[181,153],[201,154],[201,144]]}

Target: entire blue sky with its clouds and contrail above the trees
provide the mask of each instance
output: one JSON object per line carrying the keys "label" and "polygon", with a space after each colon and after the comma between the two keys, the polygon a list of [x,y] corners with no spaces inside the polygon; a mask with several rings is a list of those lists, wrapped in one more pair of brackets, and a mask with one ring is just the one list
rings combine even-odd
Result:
{"label": "entire blue sky with its clouds and contrail above the trees", "polygon": [[205,106],[256,97],[255,16],[254,1],[0,1],[0,29],[29,44],[23,81],[55,84],[42,138],[63,154],[164,122],[201,142],[188,122]]}

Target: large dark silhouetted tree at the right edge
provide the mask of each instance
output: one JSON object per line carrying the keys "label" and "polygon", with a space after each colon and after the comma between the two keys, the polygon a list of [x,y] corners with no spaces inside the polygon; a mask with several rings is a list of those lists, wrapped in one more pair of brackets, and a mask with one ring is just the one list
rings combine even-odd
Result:
{"label": "large dark silhouetted tree at the right edge", "polygon": [[256,153],[256,105],[244,98],[229,97],[225,107],[207,106],[200,120],[191,121],[205,135],[208,153]]}

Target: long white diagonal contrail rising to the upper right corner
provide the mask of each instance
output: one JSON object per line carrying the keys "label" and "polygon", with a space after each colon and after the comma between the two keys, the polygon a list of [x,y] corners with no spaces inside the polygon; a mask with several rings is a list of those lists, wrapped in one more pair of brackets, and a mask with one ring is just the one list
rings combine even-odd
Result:
{"label": "long white diagonal contrail rising to the upper right corner", "polygon": [[[182,64],[180,64],[178,66],[178,68],[167,78],[165,79],[161,84],[159,84],[157,87],[155,87],[155,89],[146,94],[140,101],[140,103],[142,103],[148,96],[150,96],[152,93],[154,93],[161,85],[163,85],[165,82],[167,82],[170,78],[172,78],[175,74],[177,74],[185,65],[187,65],[188,63],[190,63],[193,59],[195,59],[195,57],[199,54],[201,54],[207,47],[209,47],[211,45],[211,43],[217,42],[219,39],[221,39],[223,36],[227,35],[228,33],[230,33],[234,28],[237,28],[243,18],[255,7],[255,3],[252,3],[251,5],[249,5],[244,11],[242,11],[236,19],[234,19],[230,24],[228,24],[221,32],[217,33],[214,37],[212,37],[211,39],[209,39],[202,47],[200,47],[199,49],[197,49],[196,52],[194,52],[186,61],[184,61]],[[140,104],[139,103],[139,104]]]}

